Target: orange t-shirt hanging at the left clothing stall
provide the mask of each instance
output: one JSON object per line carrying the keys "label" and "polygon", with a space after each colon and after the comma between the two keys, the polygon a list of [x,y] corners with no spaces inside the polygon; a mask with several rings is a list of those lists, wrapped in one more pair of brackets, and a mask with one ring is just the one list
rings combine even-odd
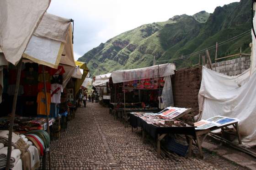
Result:
{"label": "orange t-shirt hanging at the left clothing stall", "polygon": [[[50,113],[50,105],[51,105],[51,94],[46,93],[46,99],[47,99],[47,113],[49,115]],[[43,114],[46,115],[45,112],[45,95],[44,92],[39,92],[37,94],[37,114]]]}

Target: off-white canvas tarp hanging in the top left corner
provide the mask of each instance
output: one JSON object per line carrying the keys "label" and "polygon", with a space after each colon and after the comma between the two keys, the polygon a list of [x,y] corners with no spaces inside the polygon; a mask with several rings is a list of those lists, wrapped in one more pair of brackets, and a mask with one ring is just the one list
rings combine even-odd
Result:
{"label": "off-white canvas tarp hanging in the top left corner", "polygon": [[16,65],[50,0],[0,0],[0,46],[8,62]]}

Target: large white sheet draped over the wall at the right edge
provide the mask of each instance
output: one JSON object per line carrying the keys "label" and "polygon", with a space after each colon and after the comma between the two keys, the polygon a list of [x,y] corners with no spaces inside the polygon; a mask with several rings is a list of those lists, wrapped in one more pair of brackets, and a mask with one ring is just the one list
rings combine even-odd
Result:
{"label": "large white sheet draped over the wall at the right edge", "polygon": [[221,115],[239,118],[242,142],[256,145],[256,73],[247,70],[230,77],[203,67],[201,88],[198,94],[202,119]]}

